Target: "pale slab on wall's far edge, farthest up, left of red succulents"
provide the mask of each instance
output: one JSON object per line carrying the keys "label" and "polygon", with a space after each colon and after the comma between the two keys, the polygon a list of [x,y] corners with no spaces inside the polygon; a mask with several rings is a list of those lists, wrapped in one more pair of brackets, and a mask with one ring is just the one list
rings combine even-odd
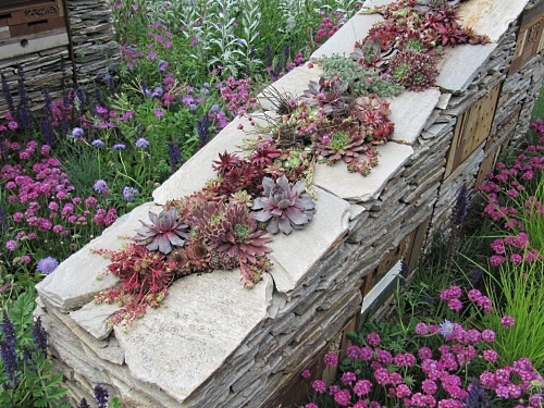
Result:
{"label": "pale slab on wall's far edge, farthest up, left of red succulents", "polygon": [[344,24],[331,38],[311,54],[311,58],[331,57],[333,54],[349,55],[354,52],[356,41],[367,37],[369,29],[382,22],[380,14],[356,14]]}

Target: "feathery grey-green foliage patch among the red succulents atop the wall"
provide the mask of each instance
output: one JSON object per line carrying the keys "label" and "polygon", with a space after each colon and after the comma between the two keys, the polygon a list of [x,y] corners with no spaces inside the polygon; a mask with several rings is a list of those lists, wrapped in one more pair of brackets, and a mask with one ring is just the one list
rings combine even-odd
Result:
{"label": "feathery grey-green foliage patch among the red succulents atop the wall", "polygon": [[331,78],[338,76],[339,82],[348,82],[348,92],[353,96],[376,94],[388,98],[400,94],[403,86],[393,82],[383,81],[374,71],[364,69],[349,57],[333,54],[316,59],[314,62],[323,69],[323,76]]}

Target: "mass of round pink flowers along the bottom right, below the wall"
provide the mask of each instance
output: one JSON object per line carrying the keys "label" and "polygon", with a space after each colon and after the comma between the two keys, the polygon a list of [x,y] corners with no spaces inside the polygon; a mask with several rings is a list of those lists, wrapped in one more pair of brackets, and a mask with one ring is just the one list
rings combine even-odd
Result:
{"label": "mass of round pink flowers along the bottom right, below the wall", "polygon": [[[459,287],[452,286],[442,292],[441,298],[450,301],[458,299],[461,293]],[[470,290],[468,296],[470,301],[481,304],[479,306],[483,308],[491,307],[486,300],[489,298],[477,289]],[[509,316],[505,316],[500,322],[505,327],[511,327],[515,323]],[[445,343],[435,350],[421,347],[416,355],[393,355],[379,347],[382,339],[378,333],[369,333],[366,346],[354,345],[347,349],[347,357],[353,360],[357,370],[344,372],[338,383],[329,387],[322,380],[312,381],[311,387],[317,394],[329,395],[339,407],[467,407],[471,394],[479,390],[474,388],[474,384],[463,382],[466,376],[461,373],[470,370],[471,363],[480,364],[481,360],[489,364],[496,363],[498,354],[489,347],[495,339],[495,333],[489,329],[480,332],[477,329],[465,329],[458,323],[447,323],[452,324],[453,334],[445,337]],[[436,325],[423,322],[416,325],[418,335],[438,335],[440,332]],[[337,355],[326,354],[324,362],[326,366],[337,364]],[[370,369],[370,374],[364,367]],[[309,370],[302,371],[302,378],[308,379],[310,375]],[[415,383],[415,378],[422,380]],[[542,381],[543,378],[532,368],[529,359],[520,359],[512,367],[499,368],[494,372],[485,371],[480,375],[482,390],[487,391],[490,397],[498,399],[529,396],[529,400],[540,401],[539,391],[531,395],[531,382],[535,380]],[[372,391],[380,388],[386,393],[385,400],[383,397],[380,397],[380,401],[372,400]],[[319,408],[314,403],[306,407]]]}

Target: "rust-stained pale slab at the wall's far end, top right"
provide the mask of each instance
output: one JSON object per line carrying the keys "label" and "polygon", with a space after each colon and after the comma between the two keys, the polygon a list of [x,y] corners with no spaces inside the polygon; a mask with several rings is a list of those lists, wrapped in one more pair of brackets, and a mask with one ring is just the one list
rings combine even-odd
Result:
{"label": "rust-stained pale slab at the wall's far end, top right", "polygon": [[[462,26],[473,28],[497,42],[526,8],[528,0],[471,0],[460,4],[458,16]],[[483,17],[485,16],[485,17]]]}

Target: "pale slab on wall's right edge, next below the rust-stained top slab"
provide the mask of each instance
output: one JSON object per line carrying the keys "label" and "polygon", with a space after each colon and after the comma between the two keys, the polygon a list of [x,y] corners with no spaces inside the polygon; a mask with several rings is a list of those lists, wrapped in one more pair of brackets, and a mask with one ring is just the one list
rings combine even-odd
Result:
{"label": "pale slab on wall's right edge, next below the rust-stained top slab", "polygon": [[436,86],[452,92],[466,90],[495,48],[496,44],[447,48],[444,58],[438,62]]}

